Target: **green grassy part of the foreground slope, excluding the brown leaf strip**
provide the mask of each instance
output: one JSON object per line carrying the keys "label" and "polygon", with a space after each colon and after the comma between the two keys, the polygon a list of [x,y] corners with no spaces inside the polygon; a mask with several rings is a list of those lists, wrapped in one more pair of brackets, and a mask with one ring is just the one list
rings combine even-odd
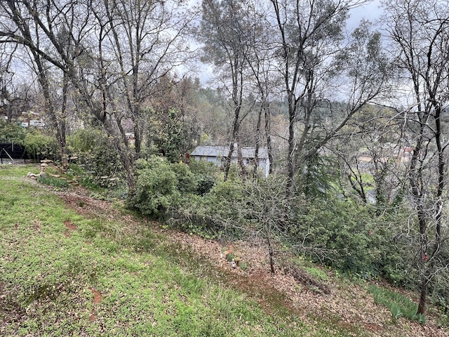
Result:
{"label": "green grassy part of the foreground slope, excluding the brown leaf strip", "polygon": [[27,171],[0,166],[0,336],[372,336],[277,302],[267,313],[188,248],[126,216],[81,216]]}

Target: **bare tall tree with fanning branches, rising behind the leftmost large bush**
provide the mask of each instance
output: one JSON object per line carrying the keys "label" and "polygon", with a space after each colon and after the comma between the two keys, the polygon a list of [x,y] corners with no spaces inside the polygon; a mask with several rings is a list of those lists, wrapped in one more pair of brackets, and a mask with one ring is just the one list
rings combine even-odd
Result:
{"label": "bare tall tree with fanning branches, rising behind the leftmost large bush", "polygon": [[[97,30],[91,39],[96,51],[91,64],[97,74],[82,74],[83,96],[95,100],[95,116],[114,136],[128,177],[134,189],[133,161],[139,157],[148,128],[152,96],[163,78],[192,57],[187,29],[194,12],[183,1],[101,0],[92,7]],[[80,67],[81,70],[81,67]],[[127,133],[133,133],[133,146]]]}

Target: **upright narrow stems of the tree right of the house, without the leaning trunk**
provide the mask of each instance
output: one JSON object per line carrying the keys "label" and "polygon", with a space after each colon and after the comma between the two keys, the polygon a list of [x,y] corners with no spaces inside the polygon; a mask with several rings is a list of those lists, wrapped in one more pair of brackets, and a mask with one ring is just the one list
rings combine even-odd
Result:
{"label": "upright narrow stems of the tree right of the house, without the leaning trunk", "polygon": [[[311,112],[323,89],[319,78],[328,57],[340,49],[349,4],[336,1],[270,0],[276,18],[279,72],[288,100],[288,193],[293,187],[295,155],[311,129]],[[302,114],[302,115],[300,115]],[[299,142],[295,126],[303,121]]]}

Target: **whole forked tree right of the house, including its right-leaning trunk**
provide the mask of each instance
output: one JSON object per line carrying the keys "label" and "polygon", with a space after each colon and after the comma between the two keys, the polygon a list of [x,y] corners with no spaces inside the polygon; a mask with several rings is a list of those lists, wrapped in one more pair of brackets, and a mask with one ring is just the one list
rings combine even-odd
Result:
{"label": "whole forked tree right of the house, including its right-leaning trunk", "polygon": [[[288,100],[290,193],[298,166],[307,166],[363,105],[380,94],[387,79],[386,62],[380,53],[380,34],[371,33],[366,22],[352,34],[349,46],[343,44],[349,10],[360,1],[270,2],[276,19],[276,56]],[[342,79],[347,82],[342,95],[349,102],[340,112],[343,118],[323,124],[320,111],[333,111],[329,102],[332,92],[342,88]]]}

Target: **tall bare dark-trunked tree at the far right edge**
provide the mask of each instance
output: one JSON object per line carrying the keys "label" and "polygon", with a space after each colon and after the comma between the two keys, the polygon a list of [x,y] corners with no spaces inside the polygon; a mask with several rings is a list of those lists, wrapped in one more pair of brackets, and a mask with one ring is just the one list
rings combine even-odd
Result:
{"label": "tall bare dark-trunked tree at the far right edge", "polygon": [[384,4],[403,87],[410,88],[403,112],[413,141],[408,183],[420,237],[417,260],[420,303],[441,263],[444,193],[447,180],[441,118],[449,102],[449,8],[441,1],[396,0]]}

